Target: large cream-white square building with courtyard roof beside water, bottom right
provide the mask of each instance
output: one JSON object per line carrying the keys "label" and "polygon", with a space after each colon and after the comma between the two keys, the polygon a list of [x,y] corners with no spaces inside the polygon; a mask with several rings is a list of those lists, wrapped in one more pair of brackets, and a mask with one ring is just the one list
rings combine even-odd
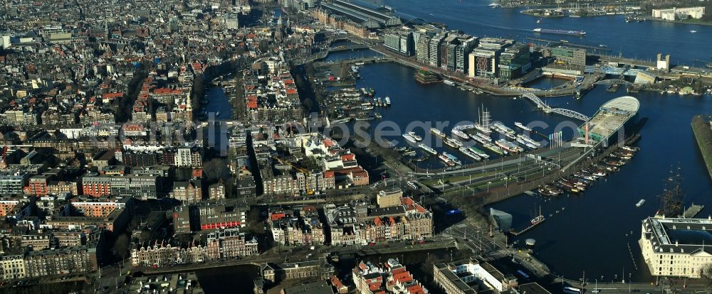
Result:
{"label": "large cream-white square building with courtyard roof beside water, bottom right", "polygon": [[700,278],[712,263],[712,219],[643,220],[638,244],[652,276]]}

